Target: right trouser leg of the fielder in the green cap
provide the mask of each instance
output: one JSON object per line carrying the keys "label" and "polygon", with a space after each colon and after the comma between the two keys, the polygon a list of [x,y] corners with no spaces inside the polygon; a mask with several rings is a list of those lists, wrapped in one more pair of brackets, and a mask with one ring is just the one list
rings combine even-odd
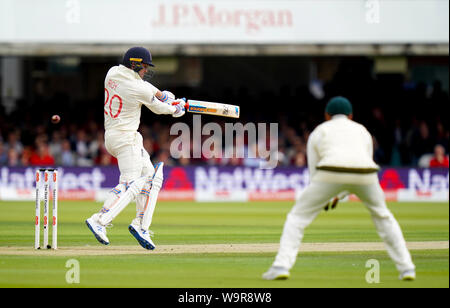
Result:
{"label": "right trouser leg of the fielder in the green cap", "polygon": [[387,208],[385,196],[379,183],[359,185],[354,193],[370,211],[377,232],[384,241],[388,254],[400,273],[414,271],[415,265],[406,247],[406,241],[397,220]]}

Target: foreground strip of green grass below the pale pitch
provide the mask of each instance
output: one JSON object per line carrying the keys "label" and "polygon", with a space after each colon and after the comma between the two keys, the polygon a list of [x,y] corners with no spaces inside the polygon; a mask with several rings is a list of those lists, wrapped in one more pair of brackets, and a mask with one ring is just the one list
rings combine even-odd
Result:
{"label": "foreground strip of green grass below the pale pitch", "polygon": [[[383,252],[302,253],[286,281],[264,281],[272,254],[76,257],[80,283],[66,282],[68,257],[2,256],[1,287],[448,288],[448,251],[413,251],[418,279],[404,282]],[[380,262],[369,284],[366,262]]]}

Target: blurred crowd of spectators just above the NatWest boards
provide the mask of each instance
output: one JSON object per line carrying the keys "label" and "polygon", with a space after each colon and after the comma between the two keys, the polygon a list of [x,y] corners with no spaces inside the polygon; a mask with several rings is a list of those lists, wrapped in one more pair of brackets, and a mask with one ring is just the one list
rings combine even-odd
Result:
{"label": "blurred crowd of spectators just above the NatWest boards", "polygon": [[[380,110],[374,111],[374,117],[382,117],[379,113],[381,113]],[[208,119],[211,121],[211,118]],[[204,156],[174,159],[171,157],[170,146],[178,136],[170,135],[171,125],[160,122],[144,123],[141,124],[139,131],[144,137],[144,148],[154,162],[162,161],[166,165],[258,166],[260,161],[264,161],[258,156],[257,145],[248,144],[247,138],[236,139],[234,155],[219,154],[212,159]],[[381,125],[382,121],[380,120],[377,124]],[[392,143],[388,148],[380,147],[380,144],[386,140],[378,140],[374,135],[375,160],[381,165],[391,166],[448,167],[449,131],[444,124],[416,120],[413,120],[412,124],[407,130],[396,126],[391,131]],[[33,127],[31,131],[23,131],[16,127],[5,129],[4,125],[2,126],[0,126],[0,165],[88,167],[117,164],[117,160],[106,151],[103,124],[93,120],[83,126],[68,123],[55,125],[53,129],[49,129],[49,126],[41,125]],[[279,123],[278,128],[277,152],[271,153],[271,158],[277,159],[280,166],[305,167],[307,164],[306,142],[311,129],[306,122],[300,124],[300,129],[286,122]],[[24,138],[25,135],[26,138]],[[270,134],[267,136],[269,137]],[[203,141],[205,137],[208,136],[203,136]],[[223,144],[223,140],[220,142]],[[269,142],[267,138],[267,145]],[[192,140],[189,145],[190,155],[193,156]],[[390,161],[386,161],[386,152],[389,150],[391,150]],[[228,152],[224,150],[217,153]]]}

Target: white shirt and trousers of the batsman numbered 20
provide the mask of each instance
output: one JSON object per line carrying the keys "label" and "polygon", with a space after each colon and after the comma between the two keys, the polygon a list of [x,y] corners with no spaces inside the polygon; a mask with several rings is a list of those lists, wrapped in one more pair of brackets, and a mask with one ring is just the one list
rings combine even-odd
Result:
{"label": "white shirt and trousers of the batsman numbered 20", "polygon": [[158,91],[138,73],[123,66],[112,67],[105,77],[105,147],[117,158],[120,182],[151,175],[154,172],[150,157],[137,131],[142,106],[156,114],[173,114],[175,107],[159,101]]}

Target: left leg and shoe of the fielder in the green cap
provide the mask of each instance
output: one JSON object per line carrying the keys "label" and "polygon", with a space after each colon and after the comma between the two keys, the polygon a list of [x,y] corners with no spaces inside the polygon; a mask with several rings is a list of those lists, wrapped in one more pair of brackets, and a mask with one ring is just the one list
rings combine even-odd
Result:
{"label": "left leg and shoe of the fielder in the green cap", "polygon": [[[287,215],[281,235],[280,248],[272,268],[263,275],[264,279],[287,278],[288,272],[295,264],[305,228],[323,210],[323,205],[342,190],[342,185],[312,182],[305,188],[292,210]],[[283,273],[277,277],[278,272]]]}

